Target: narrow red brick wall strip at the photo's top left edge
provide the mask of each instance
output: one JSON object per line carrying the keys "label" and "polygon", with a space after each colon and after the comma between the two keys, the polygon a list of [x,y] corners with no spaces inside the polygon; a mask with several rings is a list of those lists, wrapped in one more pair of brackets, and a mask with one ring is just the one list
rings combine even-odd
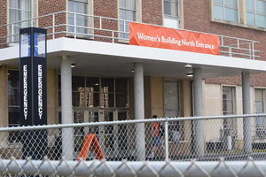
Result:
{"label": "narrow red brick wall strip at the photo's top left edge", "polygon": [[[4,24],[7,23],[6,21],[6,11],[7,11],[7,4],[6,0],[0,0],[0,26],[3,26]],[[6,27],[0,27],[0,37],[6,36],[7,35],[7,28]],[[0,39],[0,43],[6,42],[6,39]],[[0,45],[0,49],[4,48],[5,46]]]}

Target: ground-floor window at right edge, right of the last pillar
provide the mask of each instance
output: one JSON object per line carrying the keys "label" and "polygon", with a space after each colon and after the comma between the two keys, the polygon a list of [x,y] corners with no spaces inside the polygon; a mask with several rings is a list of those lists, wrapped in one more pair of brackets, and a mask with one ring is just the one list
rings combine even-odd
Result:
{"label": "ground-floor window at right edge, right of the last pillar", "polygon": [[[264,113],[264,90],[254,89],[254,108],[255,113]],[[255,118],[256,135],[264,136],[265,134],[265,118]]]}

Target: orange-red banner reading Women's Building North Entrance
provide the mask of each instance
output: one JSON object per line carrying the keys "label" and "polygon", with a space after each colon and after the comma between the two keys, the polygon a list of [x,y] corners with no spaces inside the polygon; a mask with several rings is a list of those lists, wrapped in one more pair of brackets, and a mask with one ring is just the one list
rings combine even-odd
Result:
{"label": "orange-red banner reading Women's Building North Entrance", "polygon": [[220,55],[219,36],[130,22],[129,44]]}

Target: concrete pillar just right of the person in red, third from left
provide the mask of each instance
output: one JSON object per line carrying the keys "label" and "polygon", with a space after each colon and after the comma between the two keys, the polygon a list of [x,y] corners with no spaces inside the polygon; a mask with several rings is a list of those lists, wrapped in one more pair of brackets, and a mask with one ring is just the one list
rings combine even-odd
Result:
{"label": "concrete pillar just right of the person in red, third from left", "polygon": [[[193,89],[194,89],[194,114],[203,115],[202,102],[202,76],[201,68],[193,68]],[[195,153],[198,158],[204,157],[204,122],[195,120]]]}

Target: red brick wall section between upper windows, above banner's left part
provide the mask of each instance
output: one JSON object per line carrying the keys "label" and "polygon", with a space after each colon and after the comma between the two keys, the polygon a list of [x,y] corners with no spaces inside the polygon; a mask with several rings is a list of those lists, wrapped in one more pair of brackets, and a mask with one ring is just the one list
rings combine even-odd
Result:
{"label": "red brick wall section between upper windows, above banner's left part", "polygon": [[162,26],[161,0],[142,0],[142,22]]}

